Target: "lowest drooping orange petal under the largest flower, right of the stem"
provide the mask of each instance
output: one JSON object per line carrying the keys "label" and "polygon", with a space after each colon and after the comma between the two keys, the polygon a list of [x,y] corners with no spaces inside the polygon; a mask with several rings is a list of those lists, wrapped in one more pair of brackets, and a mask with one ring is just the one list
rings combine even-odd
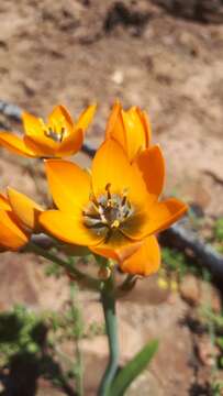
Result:
{"label": "lowest drooping orange petal under the largest flower, right of the stem", "polygon": [[148,276],[156,273],[159,265],[160,250],[155,237],[146,238],[133,254],[120,258],[121,270],[132,275]]}

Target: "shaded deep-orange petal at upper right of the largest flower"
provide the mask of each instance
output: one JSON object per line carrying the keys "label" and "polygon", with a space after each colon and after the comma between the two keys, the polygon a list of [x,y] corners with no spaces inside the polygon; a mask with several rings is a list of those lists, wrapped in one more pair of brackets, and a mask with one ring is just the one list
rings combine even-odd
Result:
{"label": "shaded deep-orange petal at upper right of the largest flower", "polygon": [[164,188],[165,180],[165,160],[158,145],[144,150],[138,154],[136,161],[143,178],[146,183],[147,191],[152,202],[158,199]]}

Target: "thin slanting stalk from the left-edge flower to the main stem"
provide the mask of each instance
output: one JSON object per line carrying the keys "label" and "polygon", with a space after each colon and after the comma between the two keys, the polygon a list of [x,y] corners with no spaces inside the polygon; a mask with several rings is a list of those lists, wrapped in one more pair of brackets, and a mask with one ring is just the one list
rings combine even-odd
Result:
{"label": "thin slanting stalk from the left-edge flower to the main stem", "polygon": [[29,244],[25,246],[26,252],[35,253],[44,258],[49,260],[53,263],[58,264],[64,270],[67,270],[70,275],[74,277],[77,277],[77,280],[82,280],[88,287],[93,289],[99,289],[100,282],[97,279],[93,279],[91,276],[82,274],[81,271],[75,268],[71,263],[56,256],[55,254],[46,251],[45,249],[38,246],[37,244],[33,242],[29,242]]}

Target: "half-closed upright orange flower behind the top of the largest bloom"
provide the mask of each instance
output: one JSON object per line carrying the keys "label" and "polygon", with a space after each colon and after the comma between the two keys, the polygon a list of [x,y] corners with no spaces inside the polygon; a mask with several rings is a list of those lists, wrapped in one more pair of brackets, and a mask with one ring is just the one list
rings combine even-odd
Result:
{"label": "half-closed upright orange flower behind the top of the largest bloom", "polygon": [[115,139],[127,153],[130,161],[149,146],[152,131],[145,111],[132,107],[127,111],[116,101],[112,108],[105,131],[105,139]]}

